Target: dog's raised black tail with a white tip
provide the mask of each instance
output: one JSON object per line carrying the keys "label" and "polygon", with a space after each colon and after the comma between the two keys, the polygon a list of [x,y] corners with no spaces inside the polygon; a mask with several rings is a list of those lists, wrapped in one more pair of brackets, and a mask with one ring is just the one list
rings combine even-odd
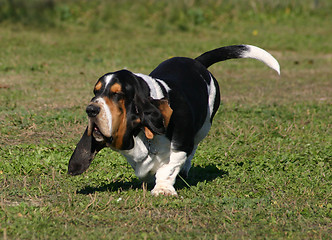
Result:
{"label": "dog's raised black tail with a white tip", "polygon": [[233,45],[217,48],[212,51],[203,53],[197,57],[196,60],[208,68],[217,62],[232,58],[257,59],[277,71],[277,73],[280,75],[280,66],[278,61],[267,51],[252,45]]}

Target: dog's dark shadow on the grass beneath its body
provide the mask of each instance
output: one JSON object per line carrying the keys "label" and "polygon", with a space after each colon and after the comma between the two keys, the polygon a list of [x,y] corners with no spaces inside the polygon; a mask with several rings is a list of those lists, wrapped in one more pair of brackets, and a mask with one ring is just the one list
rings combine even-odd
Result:
{"label": "dog's dark shadow on the grass beneath its body", "polygon": [[[208,165],[205,167],[193,166],[190,169],[189,176],[186,179],[178,177],[175,183],[175,189],[189,188],[196,186],[199,182],[211,182],[216,178],[222,178],[227,175],[227,172],[218,169],[214,165]],[[148,184],[148,190],[153,188],[154,184]],[[79,194],[93,194],[95,192],[115,192],[115,191],[125,191],[129,189],[142,189],[142,181],[135,178],[130,182],[113,182],[102,184],[98,187],[86,186],[77,191]]]}

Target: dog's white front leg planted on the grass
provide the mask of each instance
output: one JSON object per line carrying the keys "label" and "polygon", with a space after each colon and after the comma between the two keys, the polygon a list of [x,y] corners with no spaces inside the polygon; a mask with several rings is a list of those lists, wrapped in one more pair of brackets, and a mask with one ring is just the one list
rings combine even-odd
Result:
{"label": "dog's white front leg planted on the grass", "polygon": [[169,162],[156,172],[156,185],[151,191],[152,195],[177,196],[173,185],[186,159],[187,153],[171,150]]}

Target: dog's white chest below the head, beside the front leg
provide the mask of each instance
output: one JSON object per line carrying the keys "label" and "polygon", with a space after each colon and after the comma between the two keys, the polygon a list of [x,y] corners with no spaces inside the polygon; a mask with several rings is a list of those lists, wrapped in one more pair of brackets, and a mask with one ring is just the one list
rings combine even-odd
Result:
{"label": "dog's white chest below the head, beside the front leg", "polygon": [[171,142],[164,135],[156,135],[148,140],[143,132],[134,137],[134,147],[120,151],[135,170],[140,179],[153,176],[157,169],[167,164],[170,156]]}

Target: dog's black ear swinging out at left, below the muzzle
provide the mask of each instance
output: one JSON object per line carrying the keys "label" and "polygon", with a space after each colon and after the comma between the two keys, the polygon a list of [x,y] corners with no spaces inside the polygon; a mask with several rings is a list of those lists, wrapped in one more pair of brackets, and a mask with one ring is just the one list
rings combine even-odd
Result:
{"label": "dog's black ear swinging out at left, below the muzzle", "polygon": [[88,128],[86,128],[69,160],[68,174],[79,175],[87,170],[93,158],[105,146],[105,143],[97,142],[91,134],[88,136]]}

